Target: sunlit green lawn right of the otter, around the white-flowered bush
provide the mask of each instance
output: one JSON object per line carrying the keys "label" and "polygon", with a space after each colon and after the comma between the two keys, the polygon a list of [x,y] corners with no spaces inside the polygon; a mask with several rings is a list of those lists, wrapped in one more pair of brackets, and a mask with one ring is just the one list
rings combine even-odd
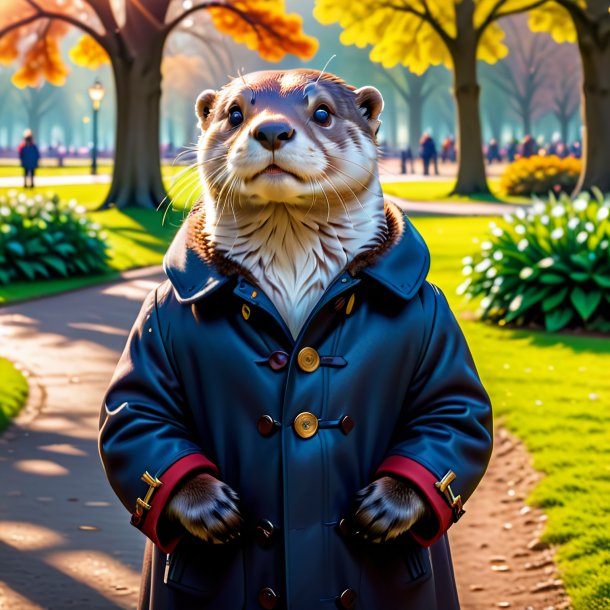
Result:
{"label": "sunlit green lawn right of the otter, around the white-flowered bush", "polygon": [[508,330],[475,322],[456,296],[461,259],[478,250],[488,220],[415,218],[432,252],[430,279],[468,338],[496,418],[545,478],[529,501],[548,514],[544,540],[575,610],[610,608],[610,338]]}

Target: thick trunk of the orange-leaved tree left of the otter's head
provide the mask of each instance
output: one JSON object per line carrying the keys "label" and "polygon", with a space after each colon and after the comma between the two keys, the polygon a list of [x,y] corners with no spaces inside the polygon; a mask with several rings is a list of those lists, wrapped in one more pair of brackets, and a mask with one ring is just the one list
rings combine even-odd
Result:
{"label": "thick trunk of the orange-leaved tree left of the otter's head", "polygon": [[116,141],[108,207],[155,209],[165,197],[159,154],[162,40],[132,59],[113,58]]}

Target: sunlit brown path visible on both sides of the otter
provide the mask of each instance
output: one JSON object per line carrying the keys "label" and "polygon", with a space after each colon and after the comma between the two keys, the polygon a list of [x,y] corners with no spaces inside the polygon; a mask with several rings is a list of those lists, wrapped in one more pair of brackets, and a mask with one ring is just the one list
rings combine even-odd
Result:
{"label": "sunlit brown path visible on both sides of the otter", "polygon": [[[0,309],[0,351],[26,366],[32,386],[28,411],[0,437],[1,610],[136,606],[144,539],[100,467],[98,412],[140,302],[161,278],[137,271]],[[500,434],[451,533],[464,610],[567,607],[550,550],[528,548],[544,525],[523,503],[536,478]]]}

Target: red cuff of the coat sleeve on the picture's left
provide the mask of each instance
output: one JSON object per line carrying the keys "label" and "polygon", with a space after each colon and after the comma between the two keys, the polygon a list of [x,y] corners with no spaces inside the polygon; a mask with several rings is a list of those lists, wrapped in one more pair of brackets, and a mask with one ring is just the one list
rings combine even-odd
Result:
{"label": "red cuff of the coat sleeve on the picture's left", "polygon": [[[185,478],[207,472],[217,476],[218,468],[201,453],[191,453],[177,462],[174,462],[163,474],[159,475],[159,480],[163,483],[158,487],[150,501],[150,510],[145,510],[141,517],[136,513],[132,515],[131,523],[142,533],[150,538],[164,553],[171,553],[182,539],[182,535],[176,535],[170,539],[160,540],[159,521],[161,515],[171,498],[176,486]],[[143,492],[145,493],[145,491]]]}

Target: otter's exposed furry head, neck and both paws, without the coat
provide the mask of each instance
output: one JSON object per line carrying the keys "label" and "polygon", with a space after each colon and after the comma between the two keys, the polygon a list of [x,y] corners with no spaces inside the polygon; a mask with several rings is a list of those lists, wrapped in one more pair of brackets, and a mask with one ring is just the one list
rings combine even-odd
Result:
{"label": "otter's exposed furry head, neck and both paws, without the coat", "polygon": [[[191,239],[246,270],[297,337],[330,283],[388,240],[376,135],[383,110],[372,86],[356,89],[313,70],[261,71],[205,90],[195,112],[204,212]],[[214,477],[188,481],[167,516],[192,535],[232,540],[238,496]],[[382,477],[356,497],[356,535],[381,542],[428,514],[417,492]]]}

